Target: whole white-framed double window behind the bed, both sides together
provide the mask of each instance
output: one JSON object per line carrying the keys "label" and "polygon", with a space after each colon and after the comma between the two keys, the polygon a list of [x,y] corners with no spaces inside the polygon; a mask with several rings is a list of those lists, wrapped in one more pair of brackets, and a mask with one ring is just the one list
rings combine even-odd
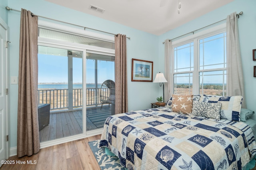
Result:
{"label": "whole white-framed double window behind the bed, both sides together", "polygon": [[223,29],[173,44],[174,93],[226,96],[226,32]]}

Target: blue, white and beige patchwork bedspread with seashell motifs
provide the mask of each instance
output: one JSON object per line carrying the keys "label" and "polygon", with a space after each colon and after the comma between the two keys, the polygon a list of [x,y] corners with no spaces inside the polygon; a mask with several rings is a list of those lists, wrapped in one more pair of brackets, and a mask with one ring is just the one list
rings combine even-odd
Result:
{"label": "blue, white and beige patchwork bedspread with seashell motifs", "polygon": [[108,147],[129,170],[239,170],[256,154],[252,129],[245,123],[167,107],[108,117],[100,147]]}

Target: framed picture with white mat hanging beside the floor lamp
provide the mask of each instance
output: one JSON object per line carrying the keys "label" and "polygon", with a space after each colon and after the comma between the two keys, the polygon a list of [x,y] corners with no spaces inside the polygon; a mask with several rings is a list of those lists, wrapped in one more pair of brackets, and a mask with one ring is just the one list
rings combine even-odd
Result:
{"label": "framed picture with white mat hanging beside the floor lamp", "polygon": [[132,59],[132,82],[153,82],[153,61]]}

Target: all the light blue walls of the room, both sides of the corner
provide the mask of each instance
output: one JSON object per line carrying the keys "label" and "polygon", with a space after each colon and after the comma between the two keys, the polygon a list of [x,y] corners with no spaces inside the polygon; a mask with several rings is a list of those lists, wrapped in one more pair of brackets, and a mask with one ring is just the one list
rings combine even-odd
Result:
{"label": "all the light blue walls of the room, both sides of the corner", "polygon": [[[6,12],[2,12],[2,8],[7,5],[6,2],[6,0],[1,0],[0,14],[3,20],[7,20],[6,23],[8,23],[10,27],[10,41],[12,42],[10,43],[10,76],[18,76],[20,13],[9,11],[7,16]],[[238,24],[240,32],[242,65],[244,67],[245,76],[246,100],[248,108],[256,111],[256,104],[254,104],[254,96],[256,96],[256,78],[253,77],[253,66],[256,65],[256,61],[252,61],[252,49],[256,49],[255,0],[235,0],[226,6],[218,8],[217,10],[214,10],[160,36],[145,33],[143,31],[90,16],[82,12],[70,10],[44,0],[9,0],[8,6],[17,10],[25,8],[40,16],[78,25],[84,25],[102,31],[126,34],[127,36],[131,37],[130,40],[127,40],[129,111],[151,107],[150,103],[155,102],[156,97],[162,94],[162,88],[160,88],[158,83],[131,82],[132,58],[153,61],[154,78],[157,72],[164,71],[164,45],[162,44],[162,41],[167,38],[172,39],[174,37],[178,37],[182,34],[194,31],[216,21],[223,20],[232,12],[243,11],[244,14],[240,17]],[[10,147],[16,147],[17,145],[17,109],[18,85],[11,84]]]}

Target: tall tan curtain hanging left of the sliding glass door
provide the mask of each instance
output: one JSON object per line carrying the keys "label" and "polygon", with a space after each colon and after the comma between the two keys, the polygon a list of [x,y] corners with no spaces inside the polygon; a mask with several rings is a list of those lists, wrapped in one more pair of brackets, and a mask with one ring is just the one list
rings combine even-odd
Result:
{"label": "tall tan curtain hanging left of the sliding glass door", "polygon": [[38,126],[38,17],[22,9],[20,18],[20,60],[18,94],[17,155],[39,152]]}

